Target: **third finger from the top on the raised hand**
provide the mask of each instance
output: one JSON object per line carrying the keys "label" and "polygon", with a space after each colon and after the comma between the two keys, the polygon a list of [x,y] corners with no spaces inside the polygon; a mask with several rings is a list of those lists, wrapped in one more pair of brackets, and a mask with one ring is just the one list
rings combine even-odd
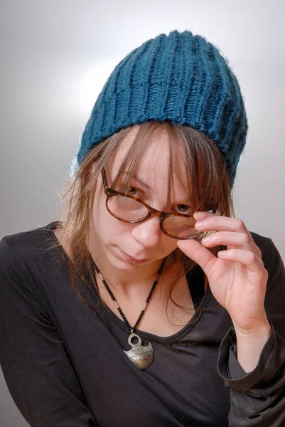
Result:
{"label": "third finger from the top on the raised hand", "polygon": [[261,258],[251,251],[242,251],[240,249],[227,249],[227,251],[220,251],[217,253],[217,257],[222,260],[236,261],[245,265],[249,270],[254,273],[260,271],[260,268],[266,272],[264,264]]}

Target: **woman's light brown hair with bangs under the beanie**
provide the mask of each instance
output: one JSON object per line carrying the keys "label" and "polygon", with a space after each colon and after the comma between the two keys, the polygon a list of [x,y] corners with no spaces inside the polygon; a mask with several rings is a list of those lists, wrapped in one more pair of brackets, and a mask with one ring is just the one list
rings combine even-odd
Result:
{"label": "woman's light brown hair with bangs under the beanie", "polygon": [[[115,188],[118,180],[122,179],[122,171],[124,170],[127,174],[124,174],[123,190],[121,191],[127,194],[131,176],[134,176],[139,159],[141,159],[147,144],[151,144],[154,136],[167,135],[170,153],[167,185],[168,201],[171,201],[173,193],[173,150],[175,150],[176,144],[179,144],[184,153],[185,174],[189,186],[185,190],[190,192],[193,212],[213,209],[221,216],[234,216],[230,180],[225,159],[215,142],[191,127],[174,125],[172,122],[150,121],[142,125],[136,125],[136,127],[138,132],[134,136],[127,154],[122,159],[122,163],[119,165],[114,181],[109,183],[112,188]],[[107,166],[124,138],[129,134],[130,129],[131,127],[120,130],[105,139],[104,142],[96,144],[80,164],[80,167],[77,168],[63,196],[63,199],[67,199],[67,202],[60,222],[70,235],[70,279],[77,294],[87,304],[90,304],[90,302],[85,300],[85,297],[82,296],[77,288],[75,272],[87,286],[92,288],[95,286],[99,295],[86,244],[87,236],[90,232],[90,217],[97,179],[100,176],[102,167]],[[200,238],[210,233],[204,233]],[[167,305],[171,300],[176,306],[185,308],[173,301],[171,294],[178,280],[185,273],[189,273],[190,270],[195,268],[196,264],[179,248],[166,258],[168,259],[165,265],[170,266],[177,261],[180,261],[181,265],[183,265],[181,273],[173,280],[169,289]]]}

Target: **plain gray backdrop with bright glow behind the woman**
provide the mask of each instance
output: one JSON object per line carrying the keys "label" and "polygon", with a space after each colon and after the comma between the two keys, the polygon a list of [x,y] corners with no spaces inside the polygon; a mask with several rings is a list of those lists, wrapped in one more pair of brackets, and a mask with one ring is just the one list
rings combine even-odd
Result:
{"label": "plain gray backdrop with bright glow behind the woman", "polygon": [[[1,0],[0,237],[58,218],[107,76],[133,48],[176,28],[219,46],[238,75],[249,137],[236,216],[285,258],[284,9],[282,0]],[[27,426],[0,381],[0,427]]]}

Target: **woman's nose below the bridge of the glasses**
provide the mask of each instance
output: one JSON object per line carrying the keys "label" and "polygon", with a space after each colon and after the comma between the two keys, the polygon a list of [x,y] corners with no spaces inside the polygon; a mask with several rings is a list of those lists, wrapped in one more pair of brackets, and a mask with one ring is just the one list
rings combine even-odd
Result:
{"label": "woman's nose below the bridge of the glasses", "polygon": [[145,248],[155,248],[161,241],[161,226],[158,216],[151,216],[141,223],[134,224],[131,235]]}

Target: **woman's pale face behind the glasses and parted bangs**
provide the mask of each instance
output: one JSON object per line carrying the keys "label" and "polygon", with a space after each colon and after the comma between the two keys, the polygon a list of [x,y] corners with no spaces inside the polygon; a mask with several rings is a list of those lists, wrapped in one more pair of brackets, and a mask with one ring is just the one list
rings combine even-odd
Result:
{"label": "woman's pale face behind the glasses and parted bangs", "polygon": [[[129,144],[137,132],[133,127],[124,139],[112,162],[106,167],[107,181],[111,185]],[[174,168],[174,204],[190,206],[190,199],[183,182],[183,154],[177,149]],[[185,174],[184,174],[185,176]],[[137,179],[136,179],[137,178]],[[143,199],[159,211],[168,211],[168,140],[166,135],[154,138],[146,147],[144,156],[131,181],[132,196]],[[144,183],[144,184],[143,184]],[[185,187],[186,188],[186,187]],[[92,228],[95,232],[97,253],[104,262],[119,270],[151,269],[177,248],[176,239],[166,236],[160,227],[160,218],[151,216],[141,223],[125,223],[114,218],[106,209],[106,195],[102,178],[98,179],[92,207]],[[134,265],[132,264],[136,260]]]}

